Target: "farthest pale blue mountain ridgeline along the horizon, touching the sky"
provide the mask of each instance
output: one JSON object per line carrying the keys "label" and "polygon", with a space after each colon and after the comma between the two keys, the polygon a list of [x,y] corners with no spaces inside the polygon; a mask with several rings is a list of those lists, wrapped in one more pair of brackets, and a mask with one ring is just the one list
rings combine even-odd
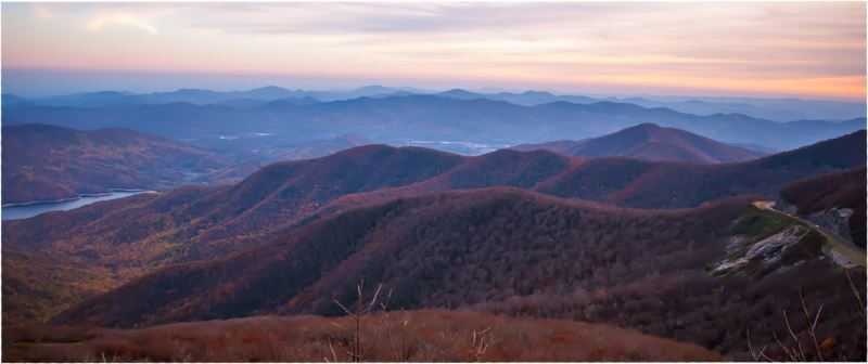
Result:
{"label": "farthest pale blue mountain ridgeline along the horizon, touching the sky", "polygon": [[20,98],[13,94],[3,95],[3,104],[44,105],[44,106],[110,106],[120,104],[221,104],[234,107],[252,107],[269,102],[316,103],[350,100],[356,98],[382,98],[409,94],[435,94],[460,100],[495,100],[516,105],[535,106],[552,102],[570,102],[591,104],[596,102],[630,103],[644,107],[664,107],[673,110],[710,116],[714,114],[742,114],[754,118],[775,121],[793,120],[846,120],[864,116],[866,103],[800,99],[760,99],[760,98],[705,98],[705,96],[586,96],[554,94],[547,91],[524,92],[475,92],[452,89],[443,92],[419,90],[413,88],[393,88],[367,86],[346,91],[309,91],[290,90],[276,86],[261,87],[246,91],[212,91],[202,89],[180,89],[170,92],[131,93],[117,91],[87,92],[47,98]]}

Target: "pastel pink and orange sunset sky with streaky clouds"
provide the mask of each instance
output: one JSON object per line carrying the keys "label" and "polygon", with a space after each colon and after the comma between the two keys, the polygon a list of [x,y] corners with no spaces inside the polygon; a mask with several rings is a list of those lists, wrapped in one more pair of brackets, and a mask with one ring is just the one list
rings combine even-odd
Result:
{"label": "pastel pink and orange sunset sky with streaky clouds", "polygon": [[2,92],[384,84],[864,101],[865,6],[3,3]]}

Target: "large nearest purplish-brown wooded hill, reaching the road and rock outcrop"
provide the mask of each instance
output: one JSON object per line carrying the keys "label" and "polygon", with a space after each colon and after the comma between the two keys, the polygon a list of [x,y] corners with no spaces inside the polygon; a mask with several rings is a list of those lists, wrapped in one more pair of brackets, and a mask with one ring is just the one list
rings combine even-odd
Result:
{"label": "large nearest purplish-brown wooded hill, reaching the road and rock outcrop", "polygon": [[[787,226],[751,231],[757,217],[749,200],[634,210],[505,187],[398,198],[317,217],[226,258],[166,266],[84,301],[54,323],[131,327],[335,315],[334,300],[355,304],[356,284],[365,280],[382,285],[394,309],[616,323],[726,354],[744,352],[744,327],[758,344],[771,342],[782,324],[764,310],[796,310],[792,298],[804,288],[807,300],[841,313],[824,330],[858,332],[847,282],[821,259],[810,235],[787,243],[793,248],[777,263],[765,256],[750,258],[741,272],[710,270],[740,253],[730,251],[732,242],[763,244],[787,234]],[[781,284],[791,280],[800,284]],[[842,348],[858,342],[835,339]]]}

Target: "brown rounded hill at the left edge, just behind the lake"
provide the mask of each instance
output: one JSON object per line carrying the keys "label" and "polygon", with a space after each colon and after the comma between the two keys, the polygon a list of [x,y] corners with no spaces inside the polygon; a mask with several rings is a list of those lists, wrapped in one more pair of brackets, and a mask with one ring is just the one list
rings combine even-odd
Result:
{"label": "brown rounded hill at the left edge, just behind the lake", "polygon": [[112,188],[167,188],[227,165],[208,151],[124,129],[3,127],[3,204]]}

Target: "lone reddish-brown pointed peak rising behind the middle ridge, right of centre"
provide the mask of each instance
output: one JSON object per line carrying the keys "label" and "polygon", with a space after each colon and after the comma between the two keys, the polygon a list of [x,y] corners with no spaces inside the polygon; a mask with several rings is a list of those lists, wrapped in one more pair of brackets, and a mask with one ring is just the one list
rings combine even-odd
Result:
{"label": "lone reddish-brown pointed peak rising behind the middle ridge, right of centre", "polygon": [[513,148],[546,150],[577,157],[623,156],[699,164],[741,161],[765,155],[682,130],[661,128],[653,123],[641,123],[600,138],[522,144]]}

